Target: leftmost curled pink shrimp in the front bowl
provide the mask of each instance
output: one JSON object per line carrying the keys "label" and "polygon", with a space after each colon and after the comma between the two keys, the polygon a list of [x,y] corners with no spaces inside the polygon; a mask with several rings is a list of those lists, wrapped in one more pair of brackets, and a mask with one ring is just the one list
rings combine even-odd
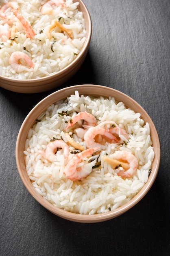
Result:
{"label": "leftmost curled pink shrimp in the front bowl", "polygon": [[55,153],[56,153],[57,148],[62,148],[64,158],[68,159],[69,146],[61,139],[57,139],[57,140],[49,142],[49,144],[46,147],[46,151],[45,151],[46,159],[48,159],[51,162],[56,161],[57,159],[56,159]]}

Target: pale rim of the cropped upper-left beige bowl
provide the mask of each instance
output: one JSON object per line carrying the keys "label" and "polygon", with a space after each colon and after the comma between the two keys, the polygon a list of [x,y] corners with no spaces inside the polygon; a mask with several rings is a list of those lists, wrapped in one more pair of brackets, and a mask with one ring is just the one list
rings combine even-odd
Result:
{"label": "pale rim of the cropped upper-left beige bowl", "polygon": [[[36,85],[34,84],[36,81],[41,81],[43,80],[44,82],[48,82],[48,79],[53,79],[57,76],[62,77],[65,73],[65,71],[70,70],[70,68],[72,66],[75,65],[75,63],[79,62],[79,60],[81,60],[81,58],[83,57],[83,55],[85,54],[85,50],[88,49],[89,47],[89,43],[92,37],[92,19],[89,13],[89,10],[87,9],[85,3],[83,2],[83,0],[73,0],[73,2],[79,2],[79,4],[81,4],[83,6],[83,9],[85,10],[85,14],[87,16],[87,23],[89,23],[89,27],[88,27],[88,34],[86,36],[86,40],[85,43],[80,51],[80,53],[78,54],[78,56],[66,67],[64,67],[62,70],[59,70],[58,72],[54,73],[54,74],[50,74],[48,76],[44,76],[44,77],[39,77],[39,78],[35,78],[35,79],[15,79],[12,77],[6,77],[6,76],[2,76],[0,75],[0,79],[2,79],[3,81],[7,81],[7,82],[15,82],[17,81],[17,87],[23,87],[23,83],[25,84],[29,84],[29,86],[31,87],[35,87]],[[79,5],[78,5],[79,7]]]}

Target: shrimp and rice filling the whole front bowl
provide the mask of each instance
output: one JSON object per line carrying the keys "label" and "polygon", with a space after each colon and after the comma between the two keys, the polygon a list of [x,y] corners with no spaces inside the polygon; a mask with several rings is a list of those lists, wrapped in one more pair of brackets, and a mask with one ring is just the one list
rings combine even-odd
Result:
{"label": "shrimp and rice filling the whole front bowl", "polygon": [[37,193],[79,214],[113,211],[148,181],[154,150],[149,124],[113,97],[79,95],[50,105],[25,141]]}

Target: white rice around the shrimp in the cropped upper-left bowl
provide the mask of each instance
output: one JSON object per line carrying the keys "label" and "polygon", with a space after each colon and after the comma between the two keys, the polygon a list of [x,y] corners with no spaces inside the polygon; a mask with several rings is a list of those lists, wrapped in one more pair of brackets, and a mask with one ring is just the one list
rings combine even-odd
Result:
{"label": "white rice around the shrimp in the cropped upper-left bowl", "polygon": [[[54,0],[54,2],[57,0]],[[43,15],[40,11],[41,5],[46,1],[41,0],[18,0],[18,6],[22,16],[33,27],[36,35],[26,38],[21,22],[11,12],[11,7],[5,11],[8,22],[13,20],[17,31],[13,38],[8,39],[0,33],[0,75],[15,79],[37,79],[40,77],[55,74],[67,67],[80,53],[86,39],[86,28],[83,13],[78,10],[78,2],[66,0],[66,8],[52,6],[53,13]],[[58,2],[58,1],[57,1]],[[1,7],[3,3],[0,3]],[[55,28],[51,31],[52,38],[46,35],[48,27],[53,20],[60,20],[66,29],[71,29],[73,37],[70,38],[64,31]],[[0,26],[7,20],[0,17]],[[12,29],[10,24],[10,31]],[[54,43],[55,40],[55,43]],[[53,47],[52,47],[52,43]],[[52,49],[51,49],[52,47]],[[29,56],[34,67],[18,72],[9,64],[9,58],[13,52],[20,51]],[[26,63],[23,63],[26,65]]]}

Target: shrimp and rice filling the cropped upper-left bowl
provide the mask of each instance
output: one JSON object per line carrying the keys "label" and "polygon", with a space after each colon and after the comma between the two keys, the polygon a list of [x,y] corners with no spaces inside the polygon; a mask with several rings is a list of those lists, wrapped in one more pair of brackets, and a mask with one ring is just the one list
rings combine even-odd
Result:
{"label": "shrimp and rice filling the cropped upper-left bowl", "polygon": [[67,67],[86,39],[85,20],[72,0],[0,2],[0,75],[37,79]]}

